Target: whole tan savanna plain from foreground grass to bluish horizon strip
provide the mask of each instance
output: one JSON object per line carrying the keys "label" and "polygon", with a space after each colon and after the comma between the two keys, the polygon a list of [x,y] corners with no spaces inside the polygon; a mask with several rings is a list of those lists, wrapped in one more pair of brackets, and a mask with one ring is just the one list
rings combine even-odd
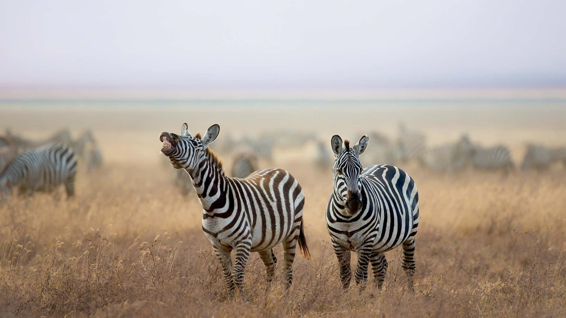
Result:
{"label": "whole tan savanna plain from foreground grass to bluish horizon strip", "polygon": [[[404,119],[431,144],[468,132],[484,144],[507,144],[518,164],[526,141],[566,143],[566,113],[512,107],[415,113],[321,109],[312,111],[31,110],[7,108],[0,127],[41,137],[61,127],[95,133],[105,164],[81,170],[76,197],[63,189],[0,201],[0,316],[117,317],[376,317],[566,316],[566,168],[548,171],[437,174],[401,165],[419,190],[415,293],[406,288],[399,248],[387,252],[381,291],[341,289],[325,226],[331,169],[312,164],[311,145],[274,149],[273,162],[289,170],[305,192],[305,233],[312,259],[295,258],[289,298],[278,264],[265,292],[256,253],[245,271],[251,302],[230,300],[222,269],[201,231],[194,194],[173,186],[158,136],[219,123],[226,134],[270,128],[314,131],[357,140],[368,130],[395,135]],[[352,117],[355,120],[345,121]],[[345,123],[344,123],[345,122]],[[371,140],[370,145],[371,147]],[[220,153],[225,169],[230,154]],[[378,164],[364,160],[364,165]],[[282,259],[282,249],[275,249]],[[355,256],[352,257],[355,266]],[[370,272],[370,281],[372,281]]]}

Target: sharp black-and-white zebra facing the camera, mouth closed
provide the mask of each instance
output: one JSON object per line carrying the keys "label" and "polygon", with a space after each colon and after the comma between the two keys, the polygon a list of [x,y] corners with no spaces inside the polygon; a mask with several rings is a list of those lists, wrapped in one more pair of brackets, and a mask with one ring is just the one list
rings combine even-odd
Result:
{"label": "sharp black-and-white zebra facing the camera, mouth closed", "polygon": [[326,209],[328,233],[338,258],[342,287],[351,280],[350,251],[358,254],[355,282],[359,293],[367,282],[371,263],[375,287],[381,289],[387,270],[384,252],[402,245],[402,268],[414,291],[415,235],[419,225],[417,186],[405,171],[392,165],[362,169],[359,155],[369,138],[362,136],[354,147],[338,135],[332,136],[333,191]]}

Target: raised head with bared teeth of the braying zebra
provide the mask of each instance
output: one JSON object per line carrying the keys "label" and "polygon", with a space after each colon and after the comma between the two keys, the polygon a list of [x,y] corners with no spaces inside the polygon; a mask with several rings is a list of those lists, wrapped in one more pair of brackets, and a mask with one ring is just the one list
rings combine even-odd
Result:
{"label": "raised head with bared teeth of the braying zebra", "polygon": [[199,134],[191,136],[187,127],[187,123],[183,123],[180,135],[162,132],[159,136],[161,152],[169,157],[175,169],[195,170],[205,160],[207,146],[218,136],[220,126],[213,124],[202,139]]}

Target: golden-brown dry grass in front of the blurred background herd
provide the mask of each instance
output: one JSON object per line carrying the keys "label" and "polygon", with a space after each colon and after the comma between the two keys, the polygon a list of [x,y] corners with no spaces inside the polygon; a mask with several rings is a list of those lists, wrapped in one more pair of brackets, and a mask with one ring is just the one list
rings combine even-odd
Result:
{"label": "golden-brown dry grass in front of the blurred background herd", "polygon": [[[80,174],[73,200],[61,189],[0,201],[1,316],[566,316],[563,169],[503,177],[404,167],[421,201],[417,291],[405,290],[395,250],[385,289],[360,296],[355,286],[340,289],[328,243],[331,176],[308,162],[277,161],[305,191],[313,257],[297,257],[285,298],[281,267],[266,294],[252,254],[245,303],[226,296],[196,196],[179,195],[160,164],[160,132],[98,132],[109,164]],[[130,153],[143,158],[127,162]],[[285,156],[293,157],[301,156]]]}

